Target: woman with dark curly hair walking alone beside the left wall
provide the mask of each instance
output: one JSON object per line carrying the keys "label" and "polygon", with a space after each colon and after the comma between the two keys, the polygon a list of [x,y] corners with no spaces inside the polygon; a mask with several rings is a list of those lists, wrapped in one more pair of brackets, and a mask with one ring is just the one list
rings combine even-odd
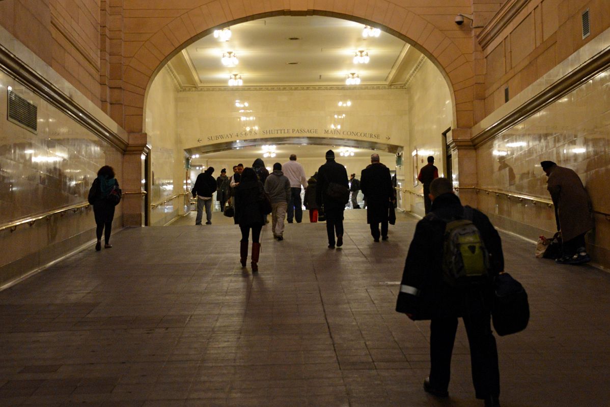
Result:
{"label": "woman with dark curly hair walking alone beside the left wall", "polygon": [[104,248],[110,249],[110,247],[112,247],[110,244],[110,232],[112,232],[112,219],[114,218],[115,205],[113,205],[112,202],[109,202],[107,197],[115,186],[118,188],[114,169],[109,165],[100,168],[98,177],[93,181],[93,187],[95,188],[92,188],[96,191],[95,197],[93,197],[93,214],[95,214],[95,224],[97,225],[95,234],[98,238],[98,241],[95,244],[95,250],[102,249],[102,232],[104,232]]}

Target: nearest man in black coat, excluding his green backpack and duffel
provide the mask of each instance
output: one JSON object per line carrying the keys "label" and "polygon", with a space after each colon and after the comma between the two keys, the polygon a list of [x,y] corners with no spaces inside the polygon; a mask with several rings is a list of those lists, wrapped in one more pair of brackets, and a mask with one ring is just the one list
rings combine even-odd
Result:
{"label": "nearest man in black coat, excluding his green backpack and duffel", "polygon": [[492,279],[504,270],[500,236],[487,216],[470,208],[471,220],[489,252],[489,283],[462,288],[448,285],[442,277],[445,226],[463,219],[465,210],[448,179],[432,181],[430,197],[431,213],[417,223],[407,253],[396,309],[414,320],[431,319],[430,375],[424,389],[437,397],[448,397],[451,353],[458,317],[462,317],[470,344],[476,398],[485,400],[486,407],[498,407],[500,372],[490,327],[490,302]]}

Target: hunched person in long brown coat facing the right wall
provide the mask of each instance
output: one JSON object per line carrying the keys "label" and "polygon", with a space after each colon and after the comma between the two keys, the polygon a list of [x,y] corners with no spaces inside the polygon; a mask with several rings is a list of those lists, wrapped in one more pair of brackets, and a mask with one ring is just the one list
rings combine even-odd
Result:
{"label": "hunched person in long brown coat facing the right wall", "polygon": [[593,228],[589,196],[583,182],[572,169],[560,167],[553,161],[542,161],[548,176],[548,192],[555,207],[557,230],[561,230],[563,257],[560,264],[582,264],[590,261],[584,235]]}

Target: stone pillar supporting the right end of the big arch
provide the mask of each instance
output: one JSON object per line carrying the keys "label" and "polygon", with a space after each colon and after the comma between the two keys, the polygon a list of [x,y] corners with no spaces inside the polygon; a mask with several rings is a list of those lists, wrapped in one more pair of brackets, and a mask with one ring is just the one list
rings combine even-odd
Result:
{"label": "stone pillar supporting the right end of the big arch", "polygon": [[453,185],[459,188],[462,205],[478,206],[476,200],[476,150],[470,140],[470,129],[451,129],[447,133],[453,161]]}

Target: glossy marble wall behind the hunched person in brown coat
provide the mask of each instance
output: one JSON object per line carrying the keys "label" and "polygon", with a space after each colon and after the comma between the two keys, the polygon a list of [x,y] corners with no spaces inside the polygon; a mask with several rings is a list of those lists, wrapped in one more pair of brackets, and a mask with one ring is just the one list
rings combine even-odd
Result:
{"label": "glossy marble wall behind the hunched person in brown coat", "polygon": [[[610,213],[610,69],[477,149],[478,185],[550,199],[540,161],[572,168],[595,211],[589,234],[596,261],[608,265]],[[555,229],[553,208],[479,193],[479,205],[514,232],[536,238]],[[604,260],[606,259],[606,260]]]}

